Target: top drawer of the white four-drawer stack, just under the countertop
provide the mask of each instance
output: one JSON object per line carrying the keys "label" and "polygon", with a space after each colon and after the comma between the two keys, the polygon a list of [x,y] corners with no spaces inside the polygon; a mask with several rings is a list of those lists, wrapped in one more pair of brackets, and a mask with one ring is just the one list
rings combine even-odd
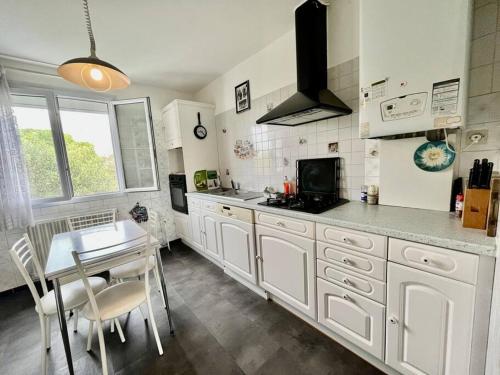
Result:
{"label": "top drawer of the white four-drawer stack, just under the countertop", "polygon": [[378,234],[317,224],[316,239],[328,242],[363,254],[387,258],[387,237]]}

